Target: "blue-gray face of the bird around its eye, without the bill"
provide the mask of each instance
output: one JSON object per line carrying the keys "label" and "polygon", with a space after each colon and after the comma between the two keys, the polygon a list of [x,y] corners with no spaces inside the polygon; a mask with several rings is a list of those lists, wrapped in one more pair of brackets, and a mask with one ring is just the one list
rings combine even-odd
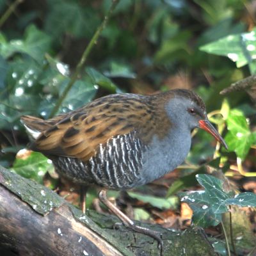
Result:
{"label": "blue-gray face of the bird around its eye, without the bill", "polygon": [[198,121],[207,118],[206,112],[191,99],[175,97],[166,104],[172,124],[189,131],[199,127]]}

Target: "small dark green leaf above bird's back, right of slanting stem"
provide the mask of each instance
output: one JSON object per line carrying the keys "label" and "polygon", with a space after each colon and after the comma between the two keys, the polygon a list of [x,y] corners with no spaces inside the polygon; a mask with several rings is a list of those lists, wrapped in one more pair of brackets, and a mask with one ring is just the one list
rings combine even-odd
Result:
{"label": "small dark green leaf above bird's back, right of slanting stem", "polygon": [[94,68],[86,68],[86,72],[92,78],[93,84],[105,88],[109,92],[116,92],[117,86],[108,77]]}

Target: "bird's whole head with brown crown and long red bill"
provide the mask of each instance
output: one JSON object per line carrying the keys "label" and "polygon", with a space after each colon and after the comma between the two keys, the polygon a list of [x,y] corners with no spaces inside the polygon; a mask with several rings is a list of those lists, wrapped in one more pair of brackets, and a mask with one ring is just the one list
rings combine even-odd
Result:
{"label": "bird's whole head with brown crown and long red bill", "polygon": [[204,101],[190,90],[178,89],[170,91],[170,99],[166,104],[166,111],[173,125],[192,131],[201,128],[209,132],[225,148],[227,144],[220,133],[207,118]]}

